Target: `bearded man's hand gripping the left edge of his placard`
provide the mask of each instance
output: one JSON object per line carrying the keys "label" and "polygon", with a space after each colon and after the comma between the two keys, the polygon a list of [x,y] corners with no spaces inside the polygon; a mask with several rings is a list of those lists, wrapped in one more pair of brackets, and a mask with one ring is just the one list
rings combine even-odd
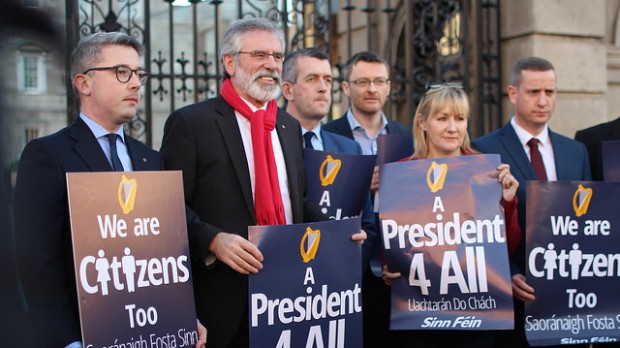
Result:
{"label": "bearded man's hand gripping the left edge of his placard", "polygon": [[209,246],[215,256],[241,274],[258,273],[263,269],[263,254],[256,245],[232,233],[218,233]]}

